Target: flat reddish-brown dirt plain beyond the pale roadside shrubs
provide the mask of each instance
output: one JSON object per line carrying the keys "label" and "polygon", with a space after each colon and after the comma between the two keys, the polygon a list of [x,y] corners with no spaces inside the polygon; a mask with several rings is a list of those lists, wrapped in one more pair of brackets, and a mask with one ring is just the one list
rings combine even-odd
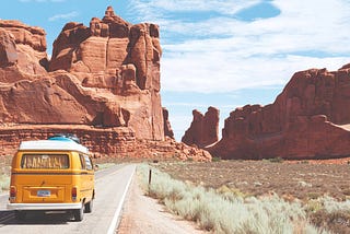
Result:
{"label": "flat reddish-brown dirt plain beyond the pale roadside shrubs", "polygon": [[327,195],[350,198],[350,159],[341,161],[221,161],[210,163],[153,164],[176,179],[221,188],[243,196],[278,194],[280,197],[310,200]]}

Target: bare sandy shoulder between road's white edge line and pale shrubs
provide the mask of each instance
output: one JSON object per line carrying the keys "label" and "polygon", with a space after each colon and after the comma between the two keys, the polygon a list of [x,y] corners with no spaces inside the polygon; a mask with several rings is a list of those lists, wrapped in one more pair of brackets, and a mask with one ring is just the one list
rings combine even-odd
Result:
{"label": "bare sandy shoulder between road's white edge line and pale shrubs", "polygon": [[158,200],[145,197],[133,177],[127,196],[118,234],[202,234],[195,223],[165,211]]}

